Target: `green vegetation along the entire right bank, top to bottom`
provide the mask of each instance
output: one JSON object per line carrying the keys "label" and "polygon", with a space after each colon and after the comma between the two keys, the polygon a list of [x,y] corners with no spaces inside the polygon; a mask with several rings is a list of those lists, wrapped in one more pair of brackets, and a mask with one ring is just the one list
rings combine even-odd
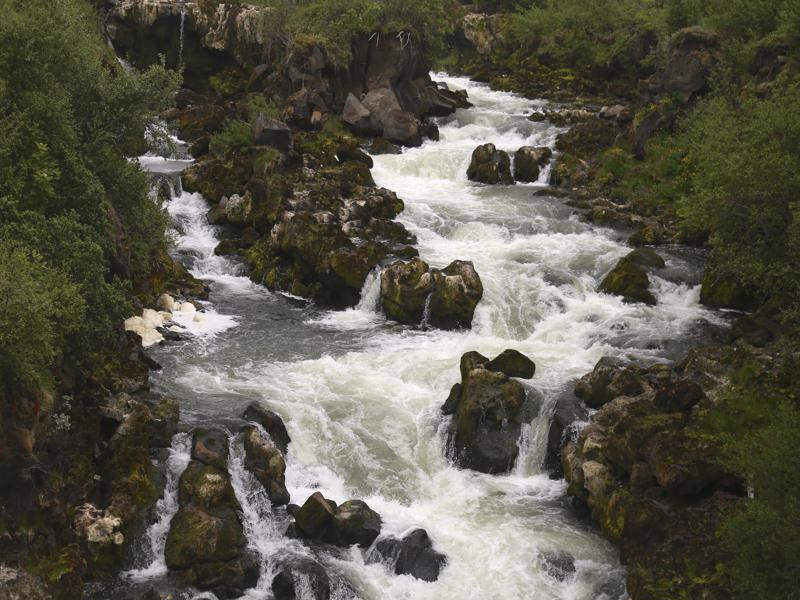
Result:
{"label": "green vegetation along the entire right bank, top to bottom", "polygon": [[[528,95],[629,107],[628,133],[586,157],[585,187],[692,231],[711,253],[704,300],[758,309],[751,326],[768,330],[757,345],[771,358],[739,365],[708,415],[709,435],[724,441],[719,460],[750,491],[718,531],[718,574],[735,597],[796,597],[800,487],[788,466],[800,441],[800,4],[482,9],[504,25],[491,51],[462,56],[462,68]],[[669,80],[680,53],[689,70],[677,75],[707,73],[689,93]]]}

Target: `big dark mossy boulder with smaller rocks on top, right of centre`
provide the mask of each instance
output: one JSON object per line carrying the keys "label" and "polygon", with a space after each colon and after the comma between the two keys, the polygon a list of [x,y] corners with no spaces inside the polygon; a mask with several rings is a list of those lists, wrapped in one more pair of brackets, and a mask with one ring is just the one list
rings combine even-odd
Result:
{"label": "big dark mossy boulder with smaller rocks on top, right of centre", "polygon": [[536,415],[539,399],[512,378],[530,379],[535,370],[516,350],[492,360],[478,352],[461,357],[461,382],[442,406],[443,414],[453,416],[449,445],[458,466],[484,473],[513,468],[522,427]]}

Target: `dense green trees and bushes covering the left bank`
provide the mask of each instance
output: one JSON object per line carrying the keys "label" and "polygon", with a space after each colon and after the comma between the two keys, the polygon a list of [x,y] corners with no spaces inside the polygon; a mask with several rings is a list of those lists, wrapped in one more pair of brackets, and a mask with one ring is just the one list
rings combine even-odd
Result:
{"label": "dense green trees and bushes covering the left bank", "polygon": [[166,216],[127,157],[179,78],[119,68],[83,1],[0,0],[0,12],[0,286],[14,291],[11,265],[24,274],[0,338],[17,340],[15,319],[33,333],[3,342],[19,354],[3,359],[4,379],[46,384],[59,356],[87,362],[114,343],[131,286],[164,247]]}

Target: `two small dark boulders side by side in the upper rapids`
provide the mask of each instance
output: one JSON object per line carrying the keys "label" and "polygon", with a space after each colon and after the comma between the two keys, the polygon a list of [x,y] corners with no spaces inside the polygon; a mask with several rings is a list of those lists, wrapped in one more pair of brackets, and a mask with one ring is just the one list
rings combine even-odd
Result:
{"label": "two small dark boulders side by side in the upper rapids", "polygon": [[514,153],[514,172],[507,152],[494,144],[483,144],[472,152],[467,178],[480,183],[511,185],[516,181],[529,183],[539,179],[539,172],[553,155],[546,146],[523,146]]}

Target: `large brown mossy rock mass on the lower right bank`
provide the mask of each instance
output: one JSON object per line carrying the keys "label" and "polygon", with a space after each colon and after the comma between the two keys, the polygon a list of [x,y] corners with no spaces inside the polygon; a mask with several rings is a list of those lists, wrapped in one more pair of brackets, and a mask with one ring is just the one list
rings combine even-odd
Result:
{"label": "large brown mossy rock mass on the lower right bank", "polygon": [[725,352],[694,350],[649,368],[604,358],[575,386],[597,412],[565,440],[568,491],[620,543],[632,596],[657,581],[676,593],[702,586],[682,581],[685,561],[714,572],[704,549],[743,485],[721,466],[722,441],[700,424],[725,381]]}

